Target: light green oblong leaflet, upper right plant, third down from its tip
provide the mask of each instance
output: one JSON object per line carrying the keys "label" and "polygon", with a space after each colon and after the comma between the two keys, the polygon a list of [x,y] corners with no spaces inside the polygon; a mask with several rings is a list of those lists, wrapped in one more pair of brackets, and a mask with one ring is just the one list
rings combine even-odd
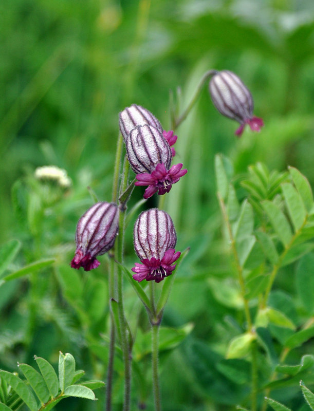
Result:
{"label": "light green oblong leaflet, upper right plant, third down from its tip", "polygon": [[273,229],[282,241],[287,246],[292,238],[292,232],[288,220],[283,212],[271,201],[263,201],[263,208],[271,222]]}

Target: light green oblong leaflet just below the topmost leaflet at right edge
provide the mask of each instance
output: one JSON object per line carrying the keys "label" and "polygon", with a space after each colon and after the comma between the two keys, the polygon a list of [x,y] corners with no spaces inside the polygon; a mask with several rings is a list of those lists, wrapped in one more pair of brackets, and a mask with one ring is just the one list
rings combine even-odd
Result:
{"label": "light green oblong leaflet just below the topmost leaflet at right edge", "polygon": [[303,226],[306,218],[306,210],[302,198],[292,184],[283,183],[281,188],[294,230],[298,231]]}

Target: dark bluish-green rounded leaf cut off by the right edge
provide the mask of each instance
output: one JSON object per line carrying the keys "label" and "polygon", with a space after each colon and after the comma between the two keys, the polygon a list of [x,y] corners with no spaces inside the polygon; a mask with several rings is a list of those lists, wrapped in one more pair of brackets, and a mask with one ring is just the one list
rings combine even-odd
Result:
{"label": "dark bluish-green rounded leaf cut off by the right edge", "polygon": [[314,254],[304,255],[297,267],[296,282],[297,291],[304,308],[314,312]]}

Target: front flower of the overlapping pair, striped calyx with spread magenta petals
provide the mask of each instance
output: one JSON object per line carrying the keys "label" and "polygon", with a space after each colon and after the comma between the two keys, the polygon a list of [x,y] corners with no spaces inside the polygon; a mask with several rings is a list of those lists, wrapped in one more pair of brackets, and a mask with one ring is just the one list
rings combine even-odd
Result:
{"label": "front flower of the overlapping pair, striped calyx with spread magenta petals", "polygon": [[135,185],[148,185],[144,198],[153,194],[169,193],[172,184],[188,172],[182,163],[170,168],[172,153],[168,143],[156,127],[135,127],[126,140],[126,153],[132,170],[137,173]]}

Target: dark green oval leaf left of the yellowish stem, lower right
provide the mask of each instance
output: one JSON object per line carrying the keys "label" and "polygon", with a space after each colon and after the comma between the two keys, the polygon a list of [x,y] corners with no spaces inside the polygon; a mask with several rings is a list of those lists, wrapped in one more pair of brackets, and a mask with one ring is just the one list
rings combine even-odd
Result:
{"label": "dark green oval leaf left of the yellowish stem, lower right", "polygon": [[238,358],[223,359],[218,362],[217,369],[236,384],[247,384],[251,379],[251,364]]}

